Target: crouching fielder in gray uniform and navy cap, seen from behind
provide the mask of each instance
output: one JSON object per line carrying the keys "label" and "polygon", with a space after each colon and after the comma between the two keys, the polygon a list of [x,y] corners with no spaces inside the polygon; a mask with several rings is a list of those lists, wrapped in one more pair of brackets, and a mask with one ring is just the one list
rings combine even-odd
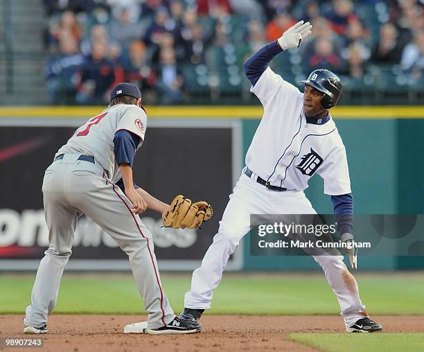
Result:
{"label": "crouching fielder in gray uniform and navy cap, seen from behind", "polygon": [[[159,278],[152,234],[139,213],[161,214],[168,204],[132,180],[132,162],[141,147],[147,115],[141,92],[130,83],[116,85],[110,105],[89,119],[56,153],[42,186],[49,247],[37,271],[24,333],[46,333],[47,315],[55,307],[64,266],[71,256],[73,233],[83,213],[127,253],[136,285],[148,312],[145,333],[200,331],[200,324],[176,317]],[[85,234],[89,236],[89,234]]]}

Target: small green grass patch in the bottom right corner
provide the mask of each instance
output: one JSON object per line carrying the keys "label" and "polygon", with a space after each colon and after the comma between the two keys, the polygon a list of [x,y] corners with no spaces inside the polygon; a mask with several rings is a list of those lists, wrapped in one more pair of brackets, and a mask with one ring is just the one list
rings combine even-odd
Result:
{"label": "small green grass patch in the bottom right corner", "polygon": [[289,339],[326,352],[424,351],[424,333],[293,333]]}

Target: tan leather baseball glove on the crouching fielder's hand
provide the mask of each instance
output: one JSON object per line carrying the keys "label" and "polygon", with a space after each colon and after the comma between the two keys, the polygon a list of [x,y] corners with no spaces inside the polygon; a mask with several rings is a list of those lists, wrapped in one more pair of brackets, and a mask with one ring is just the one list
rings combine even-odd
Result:
{"label": "tan leather baseball glove on the crouching fielder's hand", "polygon": [[211,219],[213,210],[207,202],[195,202],[177,195],[170,204],[168,211],[162,214],[164,227],[173,229],[195,229],[202,225],[202,222]]}

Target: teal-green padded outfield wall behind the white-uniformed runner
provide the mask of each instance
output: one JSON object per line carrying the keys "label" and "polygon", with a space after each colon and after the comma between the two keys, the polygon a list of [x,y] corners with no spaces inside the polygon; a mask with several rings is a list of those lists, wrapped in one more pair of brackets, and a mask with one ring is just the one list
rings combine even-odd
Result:
{"label": "teal-green padded outfield wall behind the white-uniformed runner", "polygon": [[[346,146],[355,213],[424,213],[424,119],[340,119]],[[243,150],[249,148],[258,120],[243,121]],[[318,213],[332,213],[322,179],[315,175],[306,195]],[[250,256],[244,242],[245,269],[315,270],[308,257]],[[361,269],[424,268],[424,257],[363,256]]]}

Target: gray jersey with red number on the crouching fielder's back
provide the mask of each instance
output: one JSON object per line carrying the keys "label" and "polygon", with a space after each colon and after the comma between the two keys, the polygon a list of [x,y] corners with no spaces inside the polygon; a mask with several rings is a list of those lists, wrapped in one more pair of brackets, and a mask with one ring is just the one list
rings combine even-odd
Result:
{"label": "gray jersey with red number on the crouching fielder's back", "polygon": [[[91,155],[96,162],[107,170],[112,182],[121,179],[121,171],[114,155],[114,135],[119,130],[126,130],[139,136],[140,148],[144,141],[147,127],[147,115],[136,105],[118,104],[107,107],[102,114],[90,118],[82,125],[68,143],[56,153],[59,155],[81,153]],[[134,150],[136,152],[136,150]]]}

